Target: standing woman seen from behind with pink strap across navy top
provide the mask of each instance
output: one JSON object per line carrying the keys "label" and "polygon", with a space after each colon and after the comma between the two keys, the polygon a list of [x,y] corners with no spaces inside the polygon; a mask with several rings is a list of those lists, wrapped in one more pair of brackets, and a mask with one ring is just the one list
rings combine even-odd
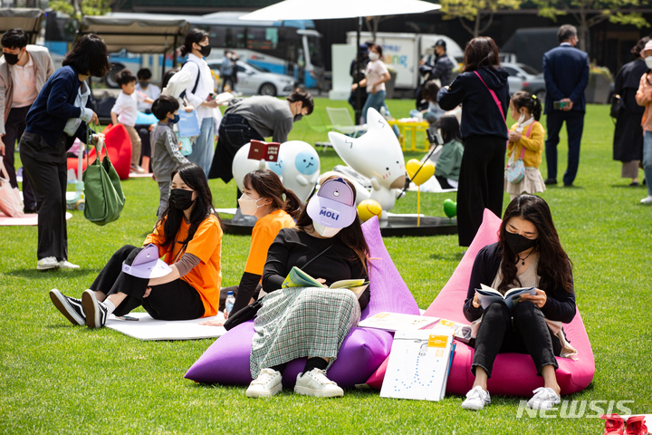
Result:
{"label": "standing woman seen from behind with pink strap across navy top", "polygon": [[503,173],[509,105],[509,74],[500,67],[498,47],[489,37],[466,44],[465,68],[437,94],[446,111],[462,104],[465,152],[457,189],[457,228],[460,247],[471,245],[484,208],[503,211]]}

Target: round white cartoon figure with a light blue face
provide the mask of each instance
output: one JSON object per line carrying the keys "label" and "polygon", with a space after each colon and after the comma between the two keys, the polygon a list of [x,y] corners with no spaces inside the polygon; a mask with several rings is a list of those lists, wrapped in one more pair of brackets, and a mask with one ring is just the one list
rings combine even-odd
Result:
{"label": "round white cartoon figure with a light blue face", "polygon": [[281,169],[285,189],[291,189],[302,201],[308,199],[314,191],[321,169],[317,151],[302,140],[290,140],[281,144],[278,160],[278,164],[269,164],[269,169],[277,174]]}

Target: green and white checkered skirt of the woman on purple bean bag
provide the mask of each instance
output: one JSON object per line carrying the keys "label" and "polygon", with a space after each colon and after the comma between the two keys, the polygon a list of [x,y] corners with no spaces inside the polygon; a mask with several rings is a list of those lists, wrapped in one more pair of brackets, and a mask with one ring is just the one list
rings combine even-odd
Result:
{"label": "green and white checkered skirt of the woman on purple bean bag", "polygon": [[265,295],[254,323],[251,374],[302,357],[337,358],[360,322],[360,304],[347,289],[290,287]]}

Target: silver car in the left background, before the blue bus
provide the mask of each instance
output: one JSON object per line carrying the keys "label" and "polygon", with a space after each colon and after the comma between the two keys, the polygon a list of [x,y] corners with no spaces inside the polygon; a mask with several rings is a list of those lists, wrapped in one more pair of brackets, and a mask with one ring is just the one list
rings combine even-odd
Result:
{"label": "silver car in the left background, before the blue bus", "polygon": [[[235,65],[238,77],[238,82],[235,83],[236,92],[246,95],[285,96],[290,95],[296,86],[294,78],[289,75],[270,73],[252,63],[238,61]],[[210,60],[208,66],[211,70],[219,72],[222,59]]]}

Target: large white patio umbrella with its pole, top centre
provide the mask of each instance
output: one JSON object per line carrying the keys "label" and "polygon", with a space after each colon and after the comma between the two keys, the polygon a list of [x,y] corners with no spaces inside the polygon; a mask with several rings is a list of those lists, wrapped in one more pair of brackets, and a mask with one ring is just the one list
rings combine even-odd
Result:
{"label": "large white patio umbrella with its pole, top centre", "polygon": [[[360,30],[362,17],[420,14],[440,9],[441,5],[420,0],[284,0],[239,17],[253,21],[332,20],[358,18],[358,64],[362,63]],[[360,87],[356,95],[356,122],[360,122]]]}

